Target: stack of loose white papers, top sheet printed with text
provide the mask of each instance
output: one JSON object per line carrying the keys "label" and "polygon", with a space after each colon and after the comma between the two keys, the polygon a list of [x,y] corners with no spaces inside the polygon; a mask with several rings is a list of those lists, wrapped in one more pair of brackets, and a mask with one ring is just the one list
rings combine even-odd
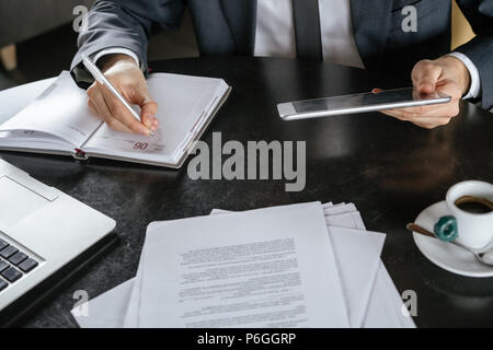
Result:
{"label": "stack of loose white papers, top sheet printed with text", "polygon": [[383,241],[353,203],[153,222],[136,278],[72,314],[81,327],[414,327]]}

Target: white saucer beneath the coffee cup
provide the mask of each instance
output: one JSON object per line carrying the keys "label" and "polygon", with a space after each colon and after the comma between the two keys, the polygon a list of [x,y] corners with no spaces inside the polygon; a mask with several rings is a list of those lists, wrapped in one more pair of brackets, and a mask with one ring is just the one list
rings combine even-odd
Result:
{"label": "white saucer beneath the coffee cup", "polygon": [[[438,219],[449,214],[447,203],[444,200],[423,210],[414,222],[433,232],[433,226]],[[469,277],[493,276],[493,266],[490,267],[479,262],[474,255],[466,249],[415,232],[413,232],[413,237],[421,253],[429,261],[447,271]]]}

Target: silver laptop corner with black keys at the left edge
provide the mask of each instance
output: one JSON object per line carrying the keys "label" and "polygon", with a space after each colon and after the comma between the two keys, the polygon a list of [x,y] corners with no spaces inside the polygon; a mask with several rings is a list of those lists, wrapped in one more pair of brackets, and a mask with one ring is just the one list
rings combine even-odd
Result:
{"label": "silver laptop corner with black keys at the left edge", "polygon": [[0,312],[114,228],[113,219],[0,159]]}

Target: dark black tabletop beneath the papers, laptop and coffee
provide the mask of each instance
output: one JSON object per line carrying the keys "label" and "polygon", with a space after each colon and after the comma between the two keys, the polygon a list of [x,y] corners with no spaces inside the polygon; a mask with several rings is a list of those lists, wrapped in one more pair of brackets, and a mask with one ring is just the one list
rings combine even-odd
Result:
{"label": "dark black tabletop beneath the papers, laptop and coffee", "polygon": [[192,180],[186,163],[167,170],[105,160],[1,152],[0,158],[117,221],[121,242],[24,322],[74,327],[76,290],[94,298],[133,278],[151,221],[320,200],[354,202],[368,230],[387,233],[382,260],[400,292],[417,294],[417,326],[493,326],[493,278],[452,275],[416,248],[405,223],[465,179],[493,182],[493,115],[461,103],[460,115],[434,130],[378,114],[283,122],[279,102],[401,88],[392,75],[279,58],[199,58],[154,62],[153,71],[225,79],[233,90],[203,137],[307,141],[305,190],[285,180]]}

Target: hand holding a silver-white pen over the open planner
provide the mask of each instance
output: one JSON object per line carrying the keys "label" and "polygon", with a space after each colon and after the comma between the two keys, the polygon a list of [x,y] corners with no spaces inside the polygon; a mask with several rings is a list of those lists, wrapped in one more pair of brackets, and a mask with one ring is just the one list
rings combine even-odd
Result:
{"label": "hand holding a silver-white pen over the open planner", "polygon": [[[114,55],[104,65],[104,74],[88,58],[82,62],[94,77],[88,89],[89,107],[114,130],[152,136],[159,126],[158,104],[149,96],[144,73],[133,58]],[[140,107],[140,116],[130,104]]]}

